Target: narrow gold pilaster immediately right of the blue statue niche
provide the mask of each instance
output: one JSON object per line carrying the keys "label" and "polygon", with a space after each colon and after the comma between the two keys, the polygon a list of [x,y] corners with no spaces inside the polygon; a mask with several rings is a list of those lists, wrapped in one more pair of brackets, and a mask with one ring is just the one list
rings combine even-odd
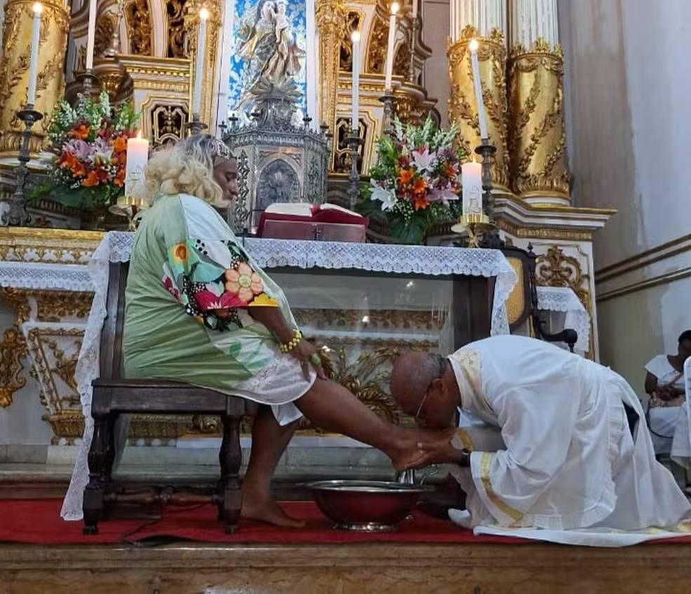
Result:
{"label": "narrow gold pilaster immediately right of the blue statue niche", "polygon": [[[320,123],[336,130],[336,97],[341,41],[346,33],[348,4],[343,0],[317,0],[316,24],[319,34],[319,114]],[[331,162],[333,158],[331,158]]]}

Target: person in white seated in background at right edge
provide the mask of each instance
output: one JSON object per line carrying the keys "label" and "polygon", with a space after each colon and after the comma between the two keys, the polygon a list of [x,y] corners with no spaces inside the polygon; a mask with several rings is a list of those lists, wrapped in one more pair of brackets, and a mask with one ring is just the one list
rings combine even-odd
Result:
{"label": "person in white seated in background at right edge", "polygon": [[648,426],[655,454],[669,454],[684,403],[684,363],[691,357],[691,330],[679,336],[676,355],[657,355],[645,370],[645,391],[650,395]]}

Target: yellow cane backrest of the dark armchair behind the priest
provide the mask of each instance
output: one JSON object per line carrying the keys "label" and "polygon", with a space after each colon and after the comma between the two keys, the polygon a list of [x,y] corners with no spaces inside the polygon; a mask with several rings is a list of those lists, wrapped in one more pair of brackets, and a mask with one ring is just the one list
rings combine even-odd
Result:
{"label": "yellow cane backrest of the dark armchair behind the priest", "polygon": [[[532,316],[537,313],[537,288],[535,286],[535,260],[532,247],[528,250],[513,245],[501,248],[504,256],[518,276],[518,282],[506,299],[506,316],[511,332],[522,328],[526,320],[533,324]],[[530,328],[531,332],[534,328]]]}

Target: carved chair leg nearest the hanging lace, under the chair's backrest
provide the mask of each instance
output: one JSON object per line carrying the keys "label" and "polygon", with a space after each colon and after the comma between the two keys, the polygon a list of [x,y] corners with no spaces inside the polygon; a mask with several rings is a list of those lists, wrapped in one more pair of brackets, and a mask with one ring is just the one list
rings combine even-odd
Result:
{"label": "carved chair leg nearest the hanging lace, under the chair's backrest", "polygon": [[105,501],[104,478],[110,477],[108,466],[110,415],[93,414],[93,439],[88,451],[88,485],[84,488],[84,534],[98,534],[98,520]]}

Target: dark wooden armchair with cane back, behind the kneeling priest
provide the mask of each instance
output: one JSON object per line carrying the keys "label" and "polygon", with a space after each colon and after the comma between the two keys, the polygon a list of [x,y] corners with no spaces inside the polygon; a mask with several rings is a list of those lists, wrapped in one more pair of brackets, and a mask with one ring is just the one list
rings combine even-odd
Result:
{"label": "dark wooden armchair with cane back, behind the kneeling priest", "polygon": [[516,332],[528,323],[531,335],[547,342],[565,342],[570,351],[578,340],[576,330],[565,328],[561,332],[551,334],[547,331],[547,322],[541,316],[537,302],[537,283],[535,281],[535,262],[537,256],[532,251],[532,245],[527,250],[507,246],[501,248],[509,264],[518,276],[518,283],[506,299],[506,316],[511,332]]}

